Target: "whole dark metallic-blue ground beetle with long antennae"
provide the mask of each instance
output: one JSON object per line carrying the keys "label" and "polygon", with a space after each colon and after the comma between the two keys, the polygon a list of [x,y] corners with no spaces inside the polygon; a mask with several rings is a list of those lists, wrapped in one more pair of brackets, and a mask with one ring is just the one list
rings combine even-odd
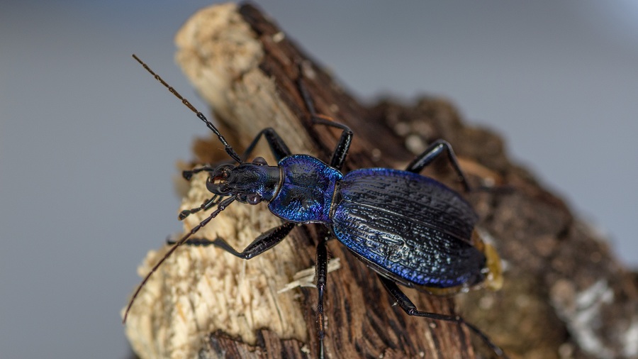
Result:
{"label": "whole dark metallic-blue ground beetle with long antennae", "polygon": [[[142,286],[179,245],[216,245],[239,258],[250,259],[273,248],[298,223],[323,223],[330,228],[333,236],[377,273],[379,280],[405,313],[467,326],[496,355],[506,358],[503,350],[476,326],[464,321],[461,316],[419,311],[397,285],[432,294],[456,294],[481,285],[493,289],[500,287],[498,254],[474,230],[478,219],[474,210],[457,192],[432,178],[419,175],[432,160],[445,153],[465,191],[469,191],[469,184],[449,143],[444,140],[432,143],[405,170],[365,168],[342,174],[352,131],[345,125],[333,122],[331,118],[315,114],[313,102],[301,81],[303,71],[300,66],[298,89],[313,122],[342,130],[330,165],[310,155],[291,154],[273,128],[259,132],[245,155],[240,156],[206,116],[142,60],[135,55],[133,57],[206,123],[237,165],[226,163],[184,171],[186,179],[197,172],[208,172],[206,188],[213,193],[213,197],[197,208],[182,211],[179,218],[184,219],[189,214],[213,206],[216,209],[174,243],[164,258],[152,268],[133,294],[124,321]],[[262,136],[277,160],[275,166],[267,165],[261,157],[245,162]],[[281,218],[283,224],[262,233],[242,252],[237,252],[222,238],[214,241],[191,238],[233,201],[247,204],[267,201],[269,210]],[[327,258],[326,243],[321,240],[317,245],[316,265],[320,358],[324,357],[323,293]]]}

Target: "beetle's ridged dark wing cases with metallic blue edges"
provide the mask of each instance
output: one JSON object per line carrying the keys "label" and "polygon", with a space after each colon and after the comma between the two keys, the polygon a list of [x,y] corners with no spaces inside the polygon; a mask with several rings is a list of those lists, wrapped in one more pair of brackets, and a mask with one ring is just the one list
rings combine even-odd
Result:
{"label": "beetle's ridged dark wing cases with metallic blue edges", "polygon": [[485,257],[469,242],[477,216],[459,194],[401,170],[354,170],[340,183],[332,231],[378,272],[425,287],[483,280]]}

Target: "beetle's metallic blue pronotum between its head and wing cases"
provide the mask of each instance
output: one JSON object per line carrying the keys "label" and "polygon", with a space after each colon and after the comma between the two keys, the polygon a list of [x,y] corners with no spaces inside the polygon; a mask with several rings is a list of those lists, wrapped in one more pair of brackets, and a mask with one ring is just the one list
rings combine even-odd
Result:
{"label": "beetle's metallic blue pronotum between its head and wing cases", "polygon": [[268,208],[286,221],[332,223],[330,207],[335,186],[343,175],[309,155],[291,155],[279,161],[283,177]]}

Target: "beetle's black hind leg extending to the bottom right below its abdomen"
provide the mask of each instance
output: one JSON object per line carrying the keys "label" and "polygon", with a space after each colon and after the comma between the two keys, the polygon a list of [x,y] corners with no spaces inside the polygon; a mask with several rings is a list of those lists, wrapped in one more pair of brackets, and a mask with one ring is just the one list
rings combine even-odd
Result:
{"label": "beetle's black hind leg extending to the bottom right below its abdomen", "polygon": [[471,331],[473,331],[479,338],[481,338],[481,340],[484,343],[486,343],[491,348],[491,350],[496,355],[498,355],[499,358],[505,358],[505,359],[509,358],[508,355],[506,355],[503,352],[503,349],[496,346],[496,344],[494,344],[491,341],[491,339],[488,338],[486,333],[483,333],[481,329],[476,328],[476,326],[474,326],[473,324],[466,322],[461,316],[430,313],[427,311],[419,311],[417,307],[414,305],[414,303],[410,300],[410,298],[408,298],[408,296],[405,295],[405,293],[403,293],[401,289],[399,289],[396,282],[394,282],[393,280],[389,280],[388,278],[383,277],[381,275],[378,275],[378,276],[379,276],[379,279],[381,279],[381,283],[383,283],[384,287],[386,287],[386,290],[392,295],[392,297],[396,301],[396,304],[401,306],[401,309],[405,311],[405,314],[408,314],[409,316],[422,316],[428,319],[433,319],[438,321],[453,321],[455,323],[464,325],[467,328],[469,328]]}

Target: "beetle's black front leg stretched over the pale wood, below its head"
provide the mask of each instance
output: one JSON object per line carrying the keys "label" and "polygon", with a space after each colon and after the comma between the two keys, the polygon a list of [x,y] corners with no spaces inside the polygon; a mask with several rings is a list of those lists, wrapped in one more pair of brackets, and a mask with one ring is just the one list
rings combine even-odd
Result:
{"label": "beetle's black front leg stretched over the pale wood, below its head", "polygon": [[288,233],[296,226],[296,223],[286,222],[281,226],[265,231],[259,237],[255,238],[242,252],[237,252],[235,248],[231,247],[223,238],[216,238],[215,241],[211,241],[206,238],[189,238],[184,242],[187,245],[216,245],[217,247],[225,250],[226,252],[236,255],[239,258],[250,259],[257,255],[264,253],[265,251],[273,248],[277,243],[281,242]]}

